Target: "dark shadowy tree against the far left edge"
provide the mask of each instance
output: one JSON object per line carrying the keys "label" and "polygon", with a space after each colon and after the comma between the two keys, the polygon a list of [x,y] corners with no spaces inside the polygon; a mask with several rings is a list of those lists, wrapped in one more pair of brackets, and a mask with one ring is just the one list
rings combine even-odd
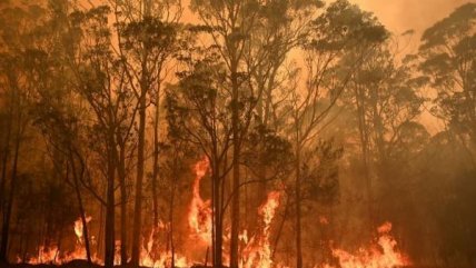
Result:
{"label": "dark shadowy tree against the far left edge", "polygon": [[[4,116],[4,140],[1,148],[0,211],[2,212],[0,261],[7,261],[10,224],[18,188],[19,161],[26,133],[31,125],[30,103],[38,89],[41,70],[36,64],[41,40],[37,26],[44,20],[44,9],[37,4],[22,9],[14,4],[0,7],[0,97]],[[2,131],[3,132],[3,131]],[[8,178],[8,175],[10,178]]]}

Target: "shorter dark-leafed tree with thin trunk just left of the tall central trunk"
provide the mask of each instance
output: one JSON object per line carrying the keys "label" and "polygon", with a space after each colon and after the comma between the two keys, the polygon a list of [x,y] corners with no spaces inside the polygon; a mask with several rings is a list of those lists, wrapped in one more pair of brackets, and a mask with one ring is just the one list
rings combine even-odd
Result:
{"label": "shorter dark-leafed tree with thin trunk just left of the tall central trunk", "polygon": [[167,92],[169,135],[199,148],[210,163],[211,254],[214,267],[222,267],[225,179],[231,166],[231,126],[227,103],[226,63],[216,48],[186,49],[180,53],[184,71]]}

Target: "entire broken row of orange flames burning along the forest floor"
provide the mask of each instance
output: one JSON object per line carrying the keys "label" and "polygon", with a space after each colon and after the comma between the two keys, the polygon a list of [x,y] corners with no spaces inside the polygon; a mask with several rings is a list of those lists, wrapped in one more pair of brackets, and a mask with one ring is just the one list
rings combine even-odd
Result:
{"label": "entire broken row of orange flames burning along the forest floor", "polygon": [[[209,170],[207,159],[198,161],[195,167],[195,180],[192,185],[192,197],[188,205],[187,224],[188,234],[187,240],[190,242],[187,250],[172,251],[163,250],[153,252],[156,236],[155,234],[167,232],[168,224],[160,222],[153,228],[148,237],[143,238],[140,266],[165,268],[171,267],[173,261],[175,267],[200,267],[208,266],[211,261],[208,259],[211,247],[212,234],[212,209],[211,200],[206,200],[200,195],[200,182],[206,177]],[[278,259],[274,259],[272,254],[272,226],[276,225],[276,216],[281,207],[284,192],[270,191],[266,200],[257,209],[258,225],[254,235],[251,231],[244,229],[240,232],[240,268],[287,268],[288,266]],[[86,222],[90,222],[92,217],[87,216]],[[325,217],[317,217],[316,224],[321,224]],[[18,258],[18,265],[14,267],[29,266],[62,266],[62,267],[88,267],[85,250],[83,226],[82,219],[79,218],[72,225],[73,234],[76,235],[76,246],[72,251],[60,250],[57,246],[46,247],[40,246],[36,256],[28,259]],[[229,228],[224,237],[224,252],[229,246]],[[397,247],[397,241],[391,236],[391,224],[385,222],[377,229],[375,239],[363,245],[357,251],[350,252],[330,242],[331,255],[335,258],[335,264],[316,264],[314,268],[390,268],[409,266],[410,261],[406,255],[400,252]],[[91,237],[95,239],[93,237]],[[200,252],[200,254],[198,254]],[[204,258],[199,258],[201,252],[205,252]],[[229,261],[224,256],[225,265]],[[91,256],[93,266],[101,266],[103,261],[97,255]],[[120,265],[120,241],[117,240],[117,250],[115,265]],[[46,266],[47,267],[47,266]]]}

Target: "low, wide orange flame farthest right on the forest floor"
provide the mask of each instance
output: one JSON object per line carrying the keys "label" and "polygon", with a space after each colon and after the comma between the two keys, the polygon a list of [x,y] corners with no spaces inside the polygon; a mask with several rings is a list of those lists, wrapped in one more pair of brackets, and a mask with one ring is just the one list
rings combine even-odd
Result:
{"label": "low, wide orange flame farthest right on the forest floor", "polygon": [[[369,248],[360,248],[357,254],[343,249],[333,249],[333,255],[339,260],[341,268],[391,268],[409,266],[408,258],[396,248],[397,242],[390,236],[391,224],[385,222],[378,227],[379,237]],[[325,268],[331,268],[326,265]]]}

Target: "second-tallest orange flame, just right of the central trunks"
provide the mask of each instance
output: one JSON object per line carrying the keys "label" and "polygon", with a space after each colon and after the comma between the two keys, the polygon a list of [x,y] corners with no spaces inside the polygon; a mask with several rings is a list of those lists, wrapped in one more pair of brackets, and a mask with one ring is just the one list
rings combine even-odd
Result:
{"label": "second-tallest orange flame, just right of the central trunks", "polygon": [[271,235],[271,222],[279,207],[279,198],[280,193],[278,191],[271,191],[268,193],[266,202],[259,207],[258,212],[262,217],[262,227],[258,236],[252,237],[249,241],[246,230],[240,236],[240,239],[247,245],[244,249],[244,258],[241,260],[242,268],[274,267],[269,238]]}

